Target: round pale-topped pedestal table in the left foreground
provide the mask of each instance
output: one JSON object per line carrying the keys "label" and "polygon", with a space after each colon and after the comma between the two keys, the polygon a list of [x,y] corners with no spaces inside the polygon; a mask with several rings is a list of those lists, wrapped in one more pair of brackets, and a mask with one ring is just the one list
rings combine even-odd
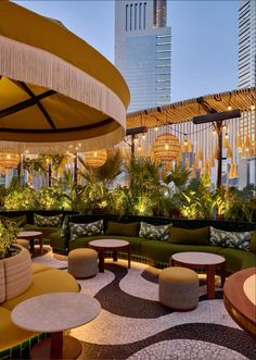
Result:
{"label": "round pale-topped pedestal table in the left foreground", "polygon": [[63,331],[90,322],[100,310],[100,302],[88,295],[52,293],[18,303],[11,318],[24,330],[51,333],[50,338],[33,347],[31,359],[77,359],[81,344],[72,336],[63,336]]}

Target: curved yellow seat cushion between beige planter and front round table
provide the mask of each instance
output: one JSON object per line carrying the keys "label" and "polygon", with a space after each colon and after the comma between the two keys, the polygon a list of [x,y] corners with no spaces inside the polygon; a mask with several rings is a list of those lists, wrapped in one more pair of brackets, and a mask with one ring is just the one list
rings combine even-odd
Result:
{"label": "curved yellow seat cushion between beige planter and front round table", "polygon": [[79,285],[76,280],[65,271],[56,269],[42,271],[33,275],[33,283],[25,293],[3,302],[2,307],[12,310],[20,302],[34,296],[59,291],[79,293]]}

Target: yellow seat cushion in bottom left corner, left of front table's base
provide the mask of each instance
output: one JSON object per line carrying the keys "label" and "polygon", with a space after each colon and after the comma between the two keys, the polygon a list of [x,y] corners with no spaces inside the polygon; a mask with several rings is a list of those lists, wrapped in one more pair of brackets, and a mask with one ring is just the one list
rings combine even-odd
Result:
{"label": "yellow seat cushion in bottom left corner, left of front table's base", "polygon": [[11,311],[0,307],[0,351],[28,340],[37,333],[17,327],[11,320]]}

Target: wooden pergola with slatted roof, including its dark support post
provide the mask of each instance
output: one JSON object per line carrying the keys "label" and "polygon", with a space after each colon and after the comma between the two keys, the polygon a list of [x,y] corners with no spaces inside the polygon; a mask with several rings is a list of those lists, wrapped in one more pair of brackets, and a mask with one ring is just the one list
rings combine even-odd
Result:
{"label": "wooden pergola with slatted roof, including its dark support post", "polygon": [[[212,94],[163,107],[145,109],[129,113],[127,116],[127,134],[132,128],[152,128],[177,123],[193,122],[200,124],[213,122],[218,134],[218,173],[217,187],[221,185],[222,167],[222,122],[227,119],[240,117],[240,113],[254,112],[256,117],[256,87]],[[234,110],[233,110],[234,109]],[[236,114],[236,115],[234,115]],[[239,115],[238,115],[239,114]],[[196,117],[196,122],[195,122]],[[256,126],[254,126],[254,142]]]}

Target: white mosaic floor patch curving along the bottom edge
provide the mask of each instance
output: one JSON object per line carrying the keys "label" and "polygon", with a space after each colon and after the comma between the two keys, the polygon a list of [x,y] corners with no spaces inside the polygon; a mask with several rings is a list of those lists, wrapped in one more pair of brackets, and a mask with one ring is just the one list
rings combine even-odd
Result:
{"label": "white mosaic floor patch curving along the bottom edge", "polygon": [[238,351],[223,346],[190,339],[175,339],[151,345],[128,358],[129,360],[246,360]]}

